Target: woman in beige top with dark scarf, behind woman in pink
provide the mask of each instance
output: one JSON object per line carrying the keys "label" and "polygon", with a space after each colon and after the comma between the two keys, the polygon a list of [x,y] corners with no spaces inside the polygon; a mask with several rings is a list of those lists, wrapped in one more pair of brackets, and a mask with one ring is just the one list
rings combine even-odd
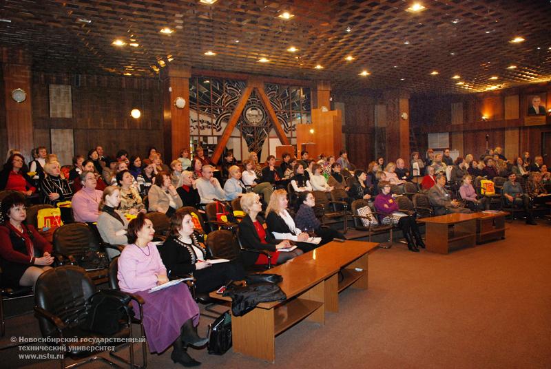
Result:
{"label": "woman in beige top with dark scarf, behind woman in pink", "polygon": [[[101,202],[98,205],[101,213],[98,216],[98,232],[103,242],[112,245],[125,245],[128,243],[126,237],[128,220],[123,211],[118,210],[121,204],[121,190],[118,186],[109,186],[103,190]],[[121,253],[107,247],[105,249],[110,260]]]}

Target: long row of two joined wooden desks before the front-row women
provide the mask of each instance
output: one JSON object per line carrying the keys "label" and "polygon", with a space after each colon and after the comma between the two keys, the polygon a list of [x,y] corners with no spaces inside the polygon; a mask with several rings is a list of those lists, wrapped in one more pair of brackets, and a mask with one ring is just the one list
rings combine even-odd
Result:
{"label": "long row of two joined wooden desks before the front-row women", "polygon": [[[376,247],[375,242],[330,242],[266,271],[283,277],[280,287],[287,300],[261,303],[242,317],[232,316],[233,351],[274,362],[275,336],[302,319],[324,324],[326,311],[339,310],[340,291],[368,287],[368,254]],[[216,293],[210,296],[231,301]]]}

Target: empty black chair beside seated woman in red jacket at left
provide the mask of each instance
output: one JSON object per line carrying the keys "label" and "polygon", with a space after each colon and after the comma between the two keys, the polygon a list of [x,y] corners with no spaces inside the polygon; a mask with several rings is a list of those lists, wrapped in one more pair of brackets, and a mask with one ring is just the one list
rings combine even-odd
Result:
{"label": "empty black chair beside seated woman in red jacket at left", "polygon": [[[58,265],[77,265],[89,251],[101,251],[98,235],[86,223],[63,224],[54,231],[53,254]],[[95,284],[107,282],[107,268],[86,271]]]}

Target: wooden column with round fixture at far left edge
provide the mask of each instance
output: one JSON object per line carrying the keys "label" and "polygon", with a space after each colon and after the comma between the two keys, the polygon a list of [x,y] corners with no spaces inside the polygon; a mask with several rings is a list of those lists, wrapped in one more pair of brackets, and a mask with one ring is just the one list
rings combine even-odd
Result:
{"label": "wooden column with round fixture at far left edge", "polygon": [[[29,162],[30,152],[34,147],[30,55],[23,50],[8,48],[2,48],[1,52],[8,149],[21,151]],[[27,93],[27,98],[22,103],[16,103],[12,99],[12,91],[17,88]]]}

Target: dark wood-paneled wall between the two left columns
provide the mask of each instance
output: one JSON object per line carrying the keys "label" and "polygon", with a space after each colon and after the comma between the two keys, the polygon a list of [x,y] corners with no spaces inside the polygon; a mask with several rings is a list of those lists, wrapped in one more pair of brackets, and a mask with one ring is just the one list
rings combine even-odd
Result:
{"label": "dark wood-paneled wall between the two left columns", "polygon": [[[71,85],[72,118],[50,118],[50,84]],[[152,146],[163,152],[163,98],[158,79],[35,73],[32,96],[35,146],[51,147],[50,129],[73,129],[74,154],[86,155],[96,145],[109,155],[125,149],[143,157]],[[130,116],[134,108],[140,109],[141,118]]]}

